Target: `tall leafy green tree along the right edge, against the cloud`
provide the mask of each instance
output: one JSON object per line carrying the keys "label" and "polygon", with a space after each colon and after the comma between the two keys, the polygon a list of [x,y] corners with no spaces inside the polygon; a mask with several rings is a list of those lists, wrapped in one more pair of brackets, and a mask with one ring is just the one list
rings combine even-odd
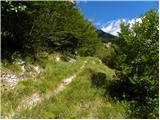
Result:
{"label": "tall leafy green tree along the right edge, against the cloud", "polygon": [[132,101],[132,114],[137,118],[158,118],[158,19],[157,12],[150,10],[132,27],[122,23],[115,47],[119,92]]}

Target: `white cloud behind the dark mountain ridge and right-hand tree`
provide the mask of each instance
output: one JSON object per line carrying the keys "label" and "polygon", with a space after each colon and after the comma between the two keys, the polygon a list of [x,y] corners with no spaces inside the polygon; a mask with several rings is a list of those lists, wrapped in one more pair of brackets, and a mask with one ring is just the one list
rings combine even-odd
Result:
{"label": "white cloud behind the dark mountain ridge and right-hand tree", "polygon": [[121,32],[121,29],[120,29],[121,21],[124,21],[125,23],[130,24],[130,27],[132,27],[135,22],[139,22],[139,23],[142,22],[141,18],[134,18],[131,20],[118,19],[118,20],[113,20],[108,22],[107,25],[101,28],[101,30],[106,33],[110,33],[112,35],[118,36],[118,32]]}

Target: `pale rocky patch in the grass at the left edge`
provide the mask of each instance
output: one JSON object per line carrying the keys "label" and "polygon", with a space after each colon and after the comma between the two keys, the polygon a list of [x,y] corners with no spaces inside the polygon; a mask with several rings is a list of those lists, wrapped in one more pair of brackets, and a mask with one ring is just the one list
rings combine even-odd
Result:
{"label": "pale rocky patch in the grass at the left edge", "polygon": [[35,78],[42,72],[42,69],[38,65],[26,64],[26,62],[21,59],[18,62],[14,62],[14,64],[20,65],[21,72],[14,73],[10,70],[1,70],[2,85],[11,89],[14,88],[19,81]]}

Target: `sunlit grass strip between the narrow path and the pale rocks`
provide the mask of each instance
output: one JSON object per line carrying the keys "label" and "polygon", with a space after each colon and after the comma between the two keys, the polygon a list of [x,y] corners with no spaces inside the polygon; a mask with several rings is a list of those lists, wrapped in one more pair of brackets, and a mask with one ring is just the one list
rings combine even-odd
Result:
{"label": "sunlit grass strip between the narrow path and the pale rocks", "polygon": [[56,88],[64,78],[69,77],[78,71],[83,63],[81,59],[77,60],[75,63],[63,61],[55,62],[53,59],[46,60],[46,62],[44,72],[37,78],[19,82],[14,90],[7,90],[5,87],[2,87],[2,116],[14,110],[24,97],[30,96],[34,92],[43,95],[47,91]]}

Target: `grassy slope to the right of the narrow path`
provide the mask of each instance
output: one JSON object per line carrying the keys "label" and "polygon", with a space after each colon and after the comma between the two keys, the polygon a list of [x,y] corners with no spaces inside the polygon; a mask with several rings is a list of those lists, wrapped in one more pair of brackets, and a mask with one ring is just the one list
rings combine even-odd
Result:
{"label": "grassy slope to the right of the narrow path", "polygon": [[[104,97],[104,90],[92,85],[89,70],[103,72],[111,78],[114,71],[101,64],[92,64],[57,96],[45,100],[31,110],[23,110],[15,118],[126,118],[127,103]],[[110,73],[110,74],[109,74]]]}

